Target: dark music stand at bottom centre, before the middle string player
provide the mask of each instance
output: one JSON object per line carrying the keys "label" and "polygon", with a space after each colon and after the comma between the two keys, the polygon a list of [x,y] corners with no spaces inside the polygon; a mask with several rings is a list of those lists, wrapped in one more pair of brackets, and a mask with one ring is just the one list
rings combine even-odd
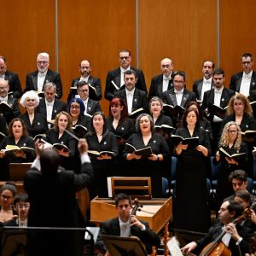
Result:
{"label": "dark music stand at bottom centre, before the middle string player", "polygon": [[111,256],[148,256],[143,242],[137,237],[102,235]]}

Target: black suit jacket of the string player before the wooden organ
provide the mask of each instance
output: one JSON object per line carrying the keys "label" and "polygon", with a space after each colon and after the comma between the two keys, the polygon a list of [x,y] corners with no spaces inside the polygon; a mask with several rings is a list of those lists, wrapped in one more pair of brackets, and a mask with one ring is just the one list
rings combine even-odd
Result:
{"label": "black suit jacket of the string player before the wooden organ", "polygon": [[[131,236],[137,236],[145,245],[148,254],[150,254],[152,253],[152,246],[158,247],[160,245],[160,239],[149,229],[147,222],[143,220],[140,220],[140,222],[145,225],[146,230],[140,230],[137,226],[131,226]],[[112,218],[103,222],[101,225],[101,235],[120,236],[119,218]],[[101,236],[96,241],[96,248],[106,251]]]}

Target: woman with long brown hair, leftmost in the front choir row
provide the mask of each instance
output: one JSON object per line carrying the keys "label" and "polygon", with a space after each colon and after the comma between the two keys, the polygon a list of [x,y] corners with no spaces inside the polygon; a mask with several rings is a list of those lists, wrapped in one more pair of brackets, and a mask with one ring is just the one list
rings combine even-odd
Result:
{"label": "woman with long brown hair, leftmost in the front choir row", "polygon": [[9,180],[9,163],[32,162],[35,158],[33,150],[14,150],[5,153],[4,149],[8,148],[8,145],[35,148],[34,141],[27,135],[26,125],[20,118],[10,121],[9,135],[0,143],[1,180]]}

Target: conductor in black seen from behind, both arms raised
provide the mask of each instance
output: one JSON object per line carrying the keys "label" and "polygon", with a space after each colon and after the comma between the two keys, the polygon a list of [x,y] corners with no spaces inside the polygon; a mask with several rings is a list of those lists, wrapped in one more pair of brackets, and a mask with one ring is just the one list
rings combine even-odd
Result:
{"label": "conductor in black seen from behind, both arms raised", "polygon": [[37,157],[26,172],[24,189],[29,197],[28,227],[67,228],[69,230],[30,230],[27,232],[27,255],[82,255],[84,217],[79,210],[76,192],[88,186],[93,169],[85,139],[79,139],[81,173],[63,170],[61,158],[53,148],[35,143]]}

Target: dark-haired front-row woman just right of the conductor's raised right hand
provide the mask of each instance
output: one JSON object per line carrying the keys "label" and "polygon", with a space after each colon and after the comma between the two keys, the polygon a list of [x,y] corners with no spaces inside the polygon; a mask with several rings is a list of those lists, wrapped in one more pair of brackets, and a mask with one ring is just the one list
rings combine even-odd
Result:
{"label": "dark-haired front-row woman just right of the conductor's raised right hand", "polygon": [[85,135],[85,138],[89,150],[113,152],[112,155],[102,154],[91,158],[95,180],[88,187],[90,199],[96,195],[108,197],[107,177],[113,176],[113,163],[118,154],[118,143],[113,133],[108,131],[106,118],[102,112],[92,115],[91,131]]}

